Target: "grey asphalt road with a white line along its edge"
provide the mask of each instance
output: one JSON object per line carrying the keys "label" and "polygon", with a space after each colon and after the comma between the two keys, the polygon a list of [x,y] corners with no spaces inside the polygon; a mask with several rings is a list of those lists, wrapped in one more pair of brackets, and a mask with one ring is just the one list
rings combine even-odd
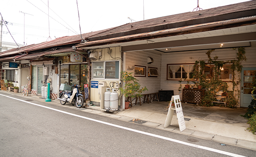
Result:
{"label": "grey asphalt road with a white line along its edge", "polygon": [[0,157],[255,157],[256,154],[250,149],[90,114],[75,106],[67,108],[16,98],[23,102],[1,94],[7,95],[0,92]]}

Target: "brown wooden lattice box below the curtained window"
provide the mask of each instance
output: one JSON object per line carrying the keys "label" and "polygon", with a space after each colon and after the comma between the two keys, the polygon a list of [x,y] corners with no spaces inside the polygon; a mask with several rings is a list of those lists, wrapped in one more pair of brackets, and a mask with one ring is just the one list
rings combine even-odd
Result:
{"label": "brown wooden lattice box below the curtained window", "polygon": [[198,89],[183,89],[182,102],[200,103],[201,99],[205,96],[205,90]]}

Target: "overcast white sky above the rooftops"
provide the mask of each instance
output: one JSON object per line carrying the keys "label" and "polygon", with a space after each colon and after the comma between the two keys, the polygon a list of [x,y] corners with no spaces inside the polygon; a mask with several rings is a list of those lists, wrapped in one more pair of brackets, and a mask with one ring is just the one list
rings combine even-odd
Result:
{"label": "overcast white sky above the rooftops", "polygon": [[[245,1],[248,0],[199,0],[199,7],[209,9]],[[7,27],[3,25],[2,42],[42,43],[78,35],[80,28],[83,34],[192,12],[194,8],[197,0],[0,0],[0,13],[8,22]]]}

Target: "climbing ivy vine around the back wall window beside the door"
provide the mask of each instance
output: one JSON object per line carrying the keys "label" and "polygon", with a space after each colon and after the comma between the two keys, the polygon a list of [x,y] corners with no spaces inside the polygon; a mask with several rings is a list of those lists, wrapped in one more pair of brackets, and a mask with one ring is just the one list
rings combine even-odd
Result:
{"label": "climbing ivy vine around the back wall window beside the door", "polygon": [[[201,106],[213,106],[212,102],[215,100],[215,95],[217,92],[222,90],[223,92],[228,93],[227,98],[227,106],[229,108],[234,108],[238,104],[238,100],[240,98],[240,77],[238,77],[238,82],[235,82],[236,71],[238,76],[241,75],[243,61],[246,61],[245,57],[245,49],[244,47],[233,48],[236,50],[236,59],[229,60],[229,61],[218,61],[218,56],[214,56],[212,59],[211,53],[214,49],[207,51],[205,54],[208,56],[208,64],[210,65],[210,71],[214,71],[214,76],[206,79],[206,75],[204,74],[205,70],[205,62],[204,61],[196,61],[194,63],[194,74],[193,79],[197,80],[194,81],[195,84],[201,85],[203,89],[206,89],[205,96],[201,100]],[[228,84],[227,82],[223,82],[219,79],[221,75],[220,68],[223,67],[224,64],[230,64],[230,68],[232,70],[232,84],[233,90],[228,91]],[[214,65],[212,67],[211,65]]]}

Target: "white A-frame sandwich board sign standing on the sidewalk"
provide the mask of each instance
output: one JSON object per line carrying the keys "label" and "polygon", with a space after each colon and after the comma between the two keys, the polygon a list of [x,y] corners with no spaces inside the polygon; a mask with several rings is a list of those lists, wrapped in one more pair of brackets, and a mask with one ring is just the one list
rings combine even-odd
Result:
{"label": "white A-frame sandwich board sign standing on the sidewalk", "polygon": [[179,127],[180,127],[180,132],[181,132],[186,129],[186,126],[185,126],[185,120],[184,120],[184,116],[183,116],[183,112],[182,112],[180,96],[179,95],[172,96],[170,103],[172,104],[173,101],[174,101],[175,107],[171,106],[171,105],[169,106],[169,110],[168,110],[168,114],[167,114],[167,117],[165,120],[164,128],[171,125],[173,113],[174,113],[174,110],[176,110],[178,123],[179,123]]}

